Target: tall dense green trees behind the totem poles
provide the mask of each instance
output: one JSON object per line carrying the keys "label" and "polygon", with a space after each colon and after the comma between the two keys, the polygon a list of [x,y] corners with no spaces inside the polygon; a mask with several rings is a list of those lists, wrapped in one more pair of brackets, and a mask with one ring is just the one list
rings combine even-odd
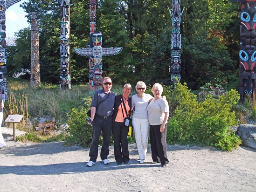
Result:
{"label": "tall dense green trees behind the totem poles", "polygon": [[[73,48],[89,44],[89,1],[72,0],[70,7],[71,83],[89,80],[89,57],[76,55]],[[141,80],[147,84],[170,84],[171,15],[167,0],[97,0],[97,31],[103,47],[123,47],[114,56],[104,56],[103,76],[118,84]],[[31,22],[36,12],[40,28],[41,82],[57,84],[60,75],[60,1],[28,0],[21,7]],[[234,89],[238,84],[239,5],[228,0],[182,0],[181,81],[191,89],[206,82]],[[7,47],[8,74],[29,69],[30,32],[16,34]],[[223,86],[223,84],[225,86]]]}

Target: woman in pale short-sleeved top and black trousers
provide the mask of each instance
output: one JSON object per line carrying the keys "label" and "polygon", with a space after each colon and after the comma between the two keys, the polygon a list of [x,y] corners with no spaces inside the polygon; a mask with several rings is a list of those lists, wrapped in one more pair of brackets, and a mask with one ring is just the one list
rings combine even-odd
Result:
{"label": "woman in pale short-sleeved top and black trousers", "polygon": [[162,97],[163,87],[155,83],[152,87],[154,98],[147,106],[148,121],[150,124],[150,145],[152,163],[161,163],[166,167],[169,163],[166,154],[167,120],[169,117],[169,105]]}

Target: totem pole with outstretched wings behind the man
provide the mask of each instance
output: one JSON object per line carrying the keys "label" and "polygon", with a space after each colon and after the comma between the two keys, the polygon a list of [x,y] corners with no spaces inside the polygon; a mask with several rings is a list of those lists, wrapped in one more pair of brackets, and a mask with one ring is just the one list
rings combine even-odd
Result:
{"label": "totem pole with outstretched wings behind the man", "polygon": [[89,91],[102,89],[102,56],[117,55],[121,53],[119,48],[102,48],[102,34],[96,31],[96,3],[90,0],[90,45],[87,48],[74,48],[77,55],[90,56],[89,59]]}

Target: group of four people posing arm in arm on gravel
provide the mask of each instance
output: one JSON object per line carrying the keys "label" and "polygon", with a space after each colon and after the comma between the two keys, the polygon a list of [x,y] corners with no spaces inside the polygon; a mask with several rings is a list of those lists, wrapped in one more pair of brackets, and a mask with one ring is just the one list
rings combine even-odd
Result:
{"label": "group of four people posing arm in arm on gravel", "polygon": [[122,162],[129,163],[128,150],[128,127],[124,124],[125,118],[132,115],[132,126],[134,129],[136,144],[140,163],[145,162],[148,146],[148,130],[150,129],[150,144],[152,151],[152,163],[161,163],[166,167],[169,163],[166,155],[166,133],[167,119],[169,117],[169,106],[165,98],[161,96],[163,87],[155,83],[152,93],[146,94],[144,82],[137,82],[136,90],[138,94],[130,97],[131,84],[124,85],[123,94],[116,96],[111,91],[111,78],[103,79],[104,89],[97,90],[91,102],[91,123],[92,123],[92,142],[90,147],[90,161],[86,166],[91,167],[97,162],[98,141],[102,132],[103,144],[100,158],[104,165],[110,164],[107,156],[109,155],[109,144],[111,130],[114,138],[114,155],[118,165]]}

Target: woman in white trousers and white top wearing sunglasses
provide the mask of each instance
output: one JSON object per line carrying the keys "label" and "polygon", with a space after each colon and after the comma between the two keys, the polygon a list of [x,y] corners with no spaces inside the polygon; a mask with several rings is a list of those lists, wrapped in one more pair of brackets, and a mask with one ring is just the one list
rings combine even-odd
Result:
{"label": "woman in white trousers and white top wearing sunglasses", "polygon": [[132,115],[132,126],[134,130],[135,140],[138,148],[138,156],[140,163],[144,163],[148,145],[148,101],[153,97],[145,93],[145,82],[137,82],[135,89],[138,94],[131,97],[131,107],[135,108]]}

